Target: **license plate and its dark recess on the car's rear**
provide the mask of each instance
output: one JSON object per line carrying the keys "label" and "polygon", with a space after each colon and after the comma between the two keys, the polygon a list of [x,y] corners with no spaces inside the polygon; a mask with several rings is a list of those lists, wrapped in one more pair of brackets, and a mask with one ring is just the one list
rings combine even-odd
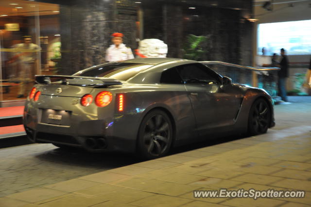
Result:
{"label": "license plate and its dark recess on the car's rear", "polygon": [[70,125],[69,111],[42,109],[41,123],[69,126]]}

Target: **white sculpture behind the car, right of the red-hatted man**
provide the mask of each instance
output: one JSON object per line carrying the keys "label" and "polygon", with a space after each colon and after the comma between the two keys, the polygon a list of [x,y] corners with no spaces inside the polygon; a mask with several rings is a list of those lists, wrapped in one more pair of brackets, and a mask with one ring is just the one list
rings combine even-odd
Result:
{"label": "white sculpture behind the car, right of the red-hatted man", "polygon": [[139,57],[166,57],[166,54],[167,44],[159,39],[143,39],[136,50]]}

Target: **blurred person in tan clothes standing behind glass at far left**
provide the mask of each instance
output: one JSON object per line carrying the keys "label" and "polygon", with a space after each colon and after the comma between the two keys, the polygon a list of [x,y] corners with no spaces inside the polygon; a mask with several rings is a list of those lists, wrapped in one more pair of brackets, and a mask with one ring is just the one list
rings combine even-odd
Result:
{"label": "blurred person in tan clothes standing behind glass at far left", "polygon": [[17,60],[19,63],[19,71],[17,72],[20,84],[18,85],[17,98],[25,97],[25,92],[29,82],[35,77],[35,61],[37,59],[37,52],[41,48],[32,43],[31,36],[24,36],[24,43],[13,46],[16,50],[16,55],[12,57],[11,61]]}

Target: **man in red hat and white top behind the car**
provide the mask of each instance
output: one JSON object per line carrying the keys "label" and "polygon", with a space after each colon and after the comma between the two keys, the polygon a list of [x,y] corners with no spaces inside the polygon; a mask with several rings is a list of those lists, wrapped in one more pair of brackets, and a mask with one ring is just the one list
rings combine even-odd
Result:
{"label": "man in red hat and white top behind the car", "polygon": [[106,61],[113,62],[134,58],[131,48],[126,47],[125,44],[122,43],[122,33],[113,33],[111,36],[113,45],[110,45],[106,51]]}

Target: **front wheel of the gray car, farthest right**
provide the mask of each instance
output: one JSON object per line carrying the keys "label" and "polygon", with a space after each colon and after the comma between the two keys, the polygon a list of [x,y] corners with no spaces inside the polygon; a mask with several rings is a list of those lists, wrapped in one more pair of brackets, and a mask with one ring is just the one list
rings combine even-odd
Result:
{"label": "front wheel of the gray car, farthest right", "polygon": [[266,133],[271,122],[271,110],[266,100],[257,99],[248,115],[248,133],[257,135]]}

